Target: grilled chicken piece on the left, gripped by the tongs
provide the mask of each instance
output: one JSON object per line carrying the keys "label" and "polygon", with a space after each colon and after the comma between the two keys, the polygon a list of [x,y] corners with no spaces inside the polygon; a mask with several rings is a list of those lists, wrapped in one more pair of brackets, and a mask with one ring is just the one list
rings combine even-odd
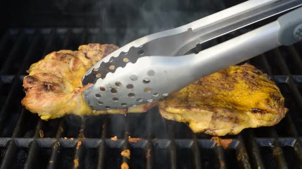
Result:
{"label": "grilled chicken piece on the left, gripped by the tongs", "polygon": [[[21,103],[43,120],[66,114],[124,114],[127,109],[92,110],[82,97],[82,91],[85,90],[81,84],[82,76],[116,49],[118,47],[111,44],[88,44],[79,46],[78,51],[60,50],[49,53],[29,68],[29,75],[23,83],[26,96]],[[143,112],[155,104],[139,105],[128,111]]]}

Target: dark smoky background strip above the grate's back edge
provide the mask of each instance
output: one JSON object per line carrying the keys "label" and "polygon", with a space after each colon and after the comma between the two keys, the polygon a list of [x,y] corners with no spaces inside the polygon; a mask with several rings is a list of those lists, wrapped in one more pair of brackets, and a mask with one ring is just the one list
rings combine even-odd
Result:
{"label": "dark smoky background strip above the grate's back edge", "polygon": [[28,0],[3,1],[0,9],[2,27],[161,27],[193,21],[240,2],[243,1]]}

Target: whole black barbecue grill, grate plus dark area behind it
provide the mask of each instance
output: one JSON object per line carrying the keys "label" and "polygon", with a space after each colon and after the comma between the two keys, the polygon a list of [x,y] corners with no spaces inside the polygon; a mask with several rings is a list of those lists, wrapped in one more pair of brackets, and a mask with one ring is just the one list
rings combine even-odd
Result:
{"label": "whole black barbecue grill, grate plus dark area behind it", "polygon": [[[8,11],[12,19],[0,33],[0,168],[120,168],[123,162],[130,168],[302,167],[302,43],[247,61],[276,82],[289,112],[273,127],[245,129],[222,137],[232,139],[228,149],[218,146],[210,135],[193,133],[184,123],[164,120],[157,107],[143,114],[69,115],[43,121],[21,106],[26,70],[51,51],[76,50],[80,44],[96,42],[123,45],[240,3],[159,2],[29,1],[18,10]],[[135,3],[137,7],[132,5]],[[91,10],[83,12],[87,9]],[[150,17],[154,11],[166,23]],[[137,12],[145,15],[136,16]],[[163,15],[167,12],[171,15]],[[148,23],[146,17],[158,24]],[[198,45],[192,51],[266,22]],[[112,140],[114,136],[118,140]],[[141,139],[130,142],[128,136]],[[125,149],[130,149],[130,159],[120,155]]]}

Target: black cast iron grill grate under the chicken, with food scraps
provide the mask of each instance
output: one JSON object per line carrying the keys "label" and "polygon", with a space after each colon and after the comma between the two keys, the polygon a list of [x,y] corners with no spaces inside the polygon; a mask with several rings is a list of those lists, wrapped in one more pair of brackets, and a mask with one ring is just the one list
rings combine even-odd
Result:
{"label": "black cast iron grill grate under the chicken, with food scraps", "polygon": [[[32,63],[51,51],[76,50],[80,44],[118,44],[116,33],[115,29],[45,28],[8,29],[2,34],[0,168],[119,168],[122,162],[130,168],[302,167],[301,43],[248,61],[277,83],[289,112],[276,126],[245,129],[238,135],[223,137],[233,139],[226,150],[210,135],[195,134],[183,123],[164,120],[157,107],[126,117],[67,116],[42,121],[20,105],[23,77]],[[111,140],[114,136],[119,139]],[[128,136],[141,140],[131,143]],[[120,155],[124,149],[130,149],[131,159]]]}

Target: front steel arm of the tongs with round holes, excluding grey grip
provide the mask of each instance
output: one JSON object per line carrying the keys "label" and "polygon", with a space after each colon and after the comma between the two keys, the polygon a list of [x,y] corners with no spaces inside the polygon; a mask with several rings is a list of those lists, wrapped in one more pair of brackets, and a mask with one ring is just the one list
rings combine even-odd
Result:
{"label": "front steel arm of the tongs with round holes, excluding grey grip", "polygon": [[95,109],[123,108],[157,101],[202,76],[279,46],[278,30],[279,24],[275,21],[198,54],[141,57],[136,63],[128,63],[98,80],[87,90],[85,100],[90,101]]}

